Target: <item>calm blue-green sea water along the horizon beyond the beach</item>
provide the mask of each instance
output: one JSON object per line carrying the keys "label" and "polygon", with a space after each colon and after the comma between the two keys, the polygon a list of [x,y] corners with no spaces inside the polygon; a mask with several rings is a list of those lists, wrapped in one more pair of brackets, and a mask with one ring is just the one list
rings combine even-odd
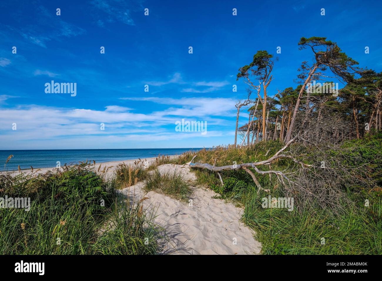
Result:
{"label": "calm blue-green sea water along the horizon beyond the beach", "polygon": [[49,149],[49,150],[0,150],[0,171],[3,171],[8,156],[13,158],[6,164],[6,169],[21,169],[55,167],[57,161],[65,163],[78,163],[78,161],[94,160],[95,162],[122,161],[136,158],[150,158],[160,155],[179,155],[201,148],[145,148],[145,149]]}

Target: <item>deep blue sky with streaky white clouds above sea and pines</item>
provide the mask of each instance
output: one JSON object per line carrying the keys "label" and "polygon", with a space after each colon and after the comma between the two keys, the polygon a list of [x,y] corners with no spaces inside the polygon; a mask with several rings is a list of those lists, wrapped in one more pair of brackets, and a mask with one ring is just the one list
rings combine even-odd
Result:
{"label": "deep blue sky with streaky white clouds above sea and pines", "polygon": [[[233,143],[235,102],[246,96],[236,74],[257,50],[279,57],[272,96],[295,87],[301,62],[311,62],[298,50],[303,36],[327,37],[361,67],[381,71],[381,8],[380,1],[3,1],[0,149]],[[77,83],[76,96],[45,93],[51,80]],[[207,133],[176,132],[181,119],[206,121]],[[240,125],[247,119],[243,112]]]}

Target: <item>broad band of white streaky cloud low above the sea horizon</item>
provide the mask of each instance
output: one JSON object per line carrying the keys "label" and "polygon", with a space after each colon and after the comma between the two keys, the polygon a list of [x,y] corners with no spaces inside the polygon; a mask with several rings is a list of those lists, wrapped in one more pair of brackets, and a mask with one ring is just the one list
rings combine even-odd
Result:
{"label": "broad band of white streaky cloud low above the sea horizon", "polygon": [[[0,101],[10,97],[1,95]],[[123,106],[106,106],[105,110],[73,109],[49,106],[17,106],[1,108],[0,134],[5,144],[18,143],[26,148],[39,148],[36,143],[45,143],[64,138],[70,141],[79,140],[81,145],[86,136],[94,135],[94,140],[107,143],[124,141],[166,141],[190,137],[217,137],[224,135],[223,128],[231,128],[232,120],[222,119],[233,115],[235,101],[225,98],[127,98],[130,100],[153,101],[180,107],[168,107],[162,111],[148,114],[132,113]],[[207,135],[200,132],[175,132],[175,122],[186,120],[206,121]],[[38,120],[38,121],[36,121]],[[16,123],[17,130],[10,124]],[[100,130],[100,123],[105,123],[105,130]],[[211,127],[212,126],[212,127]],[[215,129],[214,129],[215,126]],[[217,128],[217,129],[216,129]],[[158,133],[157,133],[158,132]],[[96,136],[96,137],[95,137]],[[33,144],[33,145],[32,145]],[[69,145],[69,144],[68,144]],[[69,147],[63,143],[63,146]],[[43,147],[43,146],[40,146]],[[50,145],[51,147],[51,145]],[[57,146],[60,147],[60,146]],[[75,143],[72,147],[78,147]],[[8,146],[8,148],[10,148]]]}

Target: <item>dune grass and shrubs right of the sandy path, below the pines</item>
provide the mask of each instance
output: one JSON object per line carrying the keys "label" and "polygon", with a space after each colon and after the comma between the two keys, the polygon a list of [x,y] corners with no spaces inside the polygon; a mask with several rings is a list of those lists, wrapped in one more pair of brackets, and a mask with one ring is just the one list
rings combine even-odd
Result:
{"label": "dune grass and shrubs right of the sandy path, below the pines", "polygon": [[[263,141],[240,148],[218,147],[197,153],[196,161],[224,166],[268,159],[282,147],[279,141]],[[314,156],[314,147],[295,144],[287,153]],[[219,193],[218,198],[243,208],[241,220],[255,232],[264,254],[381,254],[382,253],[382,134],[342,143],[321,159],[344,164],[325,180],[322,169],[305,171],[301,190],[286,189],[276,175],[257,175],[262,190],[244,170],[215,172],[196,169],[198,183]],[[320,160],[320,159],[319,159]],[[338,161],[338,162],[336,162]],[[293,161],[292,161],[293,162]],[[306,161],[309,163],[308,161]],[[294,163],[294,162],[293,162]],[[301,166],[288,160],[272,169],[288,171],[291,181],[301,179]],[[329,162],[328,162],[329,165]],[[359,166],[362,169],[359,169]],[[249,168],[251,169],[251,168]],[[255,171],[254,171],[255,172]],[[293,178],[293,175],[295,178]],[[335,177],[336,178],[335,178]],[[292,179],[293,178],[293,179]],[[311,184],[307,184],[311,182]],[[293,187],[293,186],[292,186]],[[263,208],[263,198],[294,198],[293,211]]]}

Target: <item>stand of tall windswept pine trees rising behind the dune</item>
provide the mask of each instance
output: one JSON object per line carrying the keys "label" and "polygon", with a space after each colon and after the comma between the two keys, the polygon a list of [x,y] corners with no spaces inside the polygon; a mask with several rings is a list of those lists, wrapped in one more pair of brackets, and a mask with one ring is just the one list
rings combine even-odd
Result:
{"label": "stand of tall windswept pine trees rising behind the dune", "polygon": [[[241,145],[249,145],[261,140],[288,143],[296,135],[342,141],[381,130],[382,73],[360,68],[326,37],[302,37],[298,45],[300,50],[312,51],[313,63],[301,64],[296,88],[268,93],[277,58],[265,50],[257,51],[253,62],[239,68],[237,80],[243,78],[249,93],[256,91],[257,98],[251,100],[248,96],[236,106],[235,145],[237,131]],[[338,84],[345,86],[339,89]],[[248,123],[239,127],[238,115],[243,106],[248,107]]]}

